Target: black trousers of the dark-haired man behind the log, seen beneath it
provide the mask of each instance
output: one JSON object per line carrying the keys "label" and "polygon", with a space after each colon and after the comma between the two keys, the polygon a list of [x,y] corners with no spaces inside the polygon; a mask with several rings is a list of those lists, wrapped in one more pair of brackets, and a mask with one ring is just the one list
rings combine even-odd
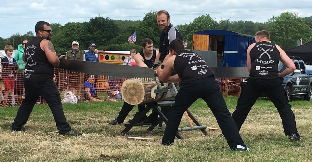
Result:
{"label": "black trousers of the dark-haired man behind the log, seen beneath it", "polygon": [[[127,102],[124,102],[124,105],[122,105],[121,110],[117,116],[118,123],[123,123],[124,119],[126,119],[129,112],[133,109],[134,105],[130,105]],[[142,112],[145,109],[145,104],[138,105],[138,113]],[[158,120],[158,114],[156,112],[152,112],[149,117],[149,120]]]}

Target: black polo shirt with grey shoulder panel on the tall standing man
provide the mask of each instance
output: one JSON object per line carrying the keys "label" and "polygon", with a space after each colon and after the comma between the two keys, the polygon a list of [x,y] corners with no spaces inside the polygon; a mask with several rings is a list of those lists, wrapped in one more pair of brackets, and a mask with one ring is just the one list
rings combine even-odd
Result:
{"label": "black polo shirt with grey shoulder panel on the tall standing man", "polygon": [[159,60],[163,62],[166,55],[169,54],[168,45],[171,41],[180,38],[182,40],[182,35],[178,31],[178,29],[174,28],[171,24],[169,24],[166,32],[161,32],[160,42],[159,42]]}

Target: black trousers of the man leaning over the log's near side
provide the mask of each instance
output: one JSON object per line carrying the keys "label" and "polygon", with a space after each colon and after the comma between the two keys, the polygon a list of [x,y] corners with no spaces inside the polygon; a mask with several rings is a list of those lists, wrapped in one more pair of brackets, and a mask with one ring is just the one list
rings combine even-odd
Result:
{"label": "black trousers of the man leaning over the log's near side", "polygon": [[231,149],[236,149],[237,145],[245,146],[227,105],[224,101],[219,85],[213,76],[207,78],[183,81],[178,94],[175,97],[168,117],[168,123],[163,135],[162,144],[174,142],[175,133],[178,131],[183,113],[198,98],[202,98],[216,117],[219,127],[227,140]]}

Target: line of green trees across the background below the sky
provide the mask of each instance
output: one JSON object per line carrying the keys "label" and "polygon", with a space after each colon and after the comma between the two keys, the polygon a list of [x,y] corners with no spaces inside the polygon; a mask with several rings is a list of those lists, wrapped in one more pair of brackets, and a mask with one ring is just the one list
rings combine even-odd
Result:
{"label": "line of green trees across the background below the sky", "polygon": [[[89,22],[69,22],[64,26],[53,23],[51,41],[57,53],[71,50],[71,42],[78,41],[80,49],[88,49],[90,43],[95,43],[100,50],[141,50],[141,40],[150,38],[154,48],[159,48],[161,30],[157,26],[156,11],[145,14],[143,20],[112,20],[108,17],[91,18]],[[267,22],[230,21],[229,19],[213,19],[210,15],[195,18],[189,24],[176,25],[183,40],[188,41],[188,49],[192,48],[193,33],[209,29],[234,31],[241,34],[255,35],[257,31],[269,31],[273,43],[280,45],[284,50],[297,46],[297,40],[303,43],[312,40],[312,16],[298,17],[296,13],[284,12],[279,16],[272,16]],[[137,42],[129,44],[127,38],[137,31]],[[34,36],[32,31],[24,35],[14,34],[10,38],[0,37],[0,49],[5,45],[13,45],[14,49],[24,39],[30,40]]]}

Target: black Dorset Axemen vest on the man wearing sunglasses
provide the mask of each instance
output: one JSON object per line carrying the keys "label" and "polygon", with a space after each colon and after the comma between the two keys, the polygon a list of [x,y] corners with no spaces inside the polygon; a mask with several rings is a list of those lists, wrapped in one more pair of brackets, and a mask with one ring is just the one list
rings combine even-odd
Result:
{"label": "black Dorset Axemen vest on the man wearing sunglasses", "polygon": [[50,64],[45,52],[40,48],[40,42],[43,39],[37,36],[25,45],[24,81],[41,82],[53,78],[53,65]]}

